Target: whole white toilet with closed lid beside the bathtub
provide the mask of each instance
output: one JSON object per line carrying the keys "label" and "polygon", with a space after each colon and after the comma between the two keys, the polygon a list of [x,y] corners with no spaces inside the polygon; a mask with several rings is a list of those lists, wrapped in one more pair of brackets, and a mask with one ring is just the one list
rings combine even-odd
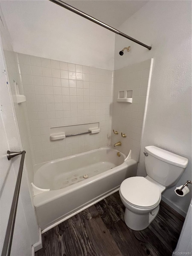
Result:
{"label": "whole white toilet with closed lid beside the bathtub", "polygon": [[159,211],[161,193],[177,183],[188,159],[156,146],[145,147],[146,177],[125,179],[119,194],[125,205],[124,220],[133,230],[143,230]]}

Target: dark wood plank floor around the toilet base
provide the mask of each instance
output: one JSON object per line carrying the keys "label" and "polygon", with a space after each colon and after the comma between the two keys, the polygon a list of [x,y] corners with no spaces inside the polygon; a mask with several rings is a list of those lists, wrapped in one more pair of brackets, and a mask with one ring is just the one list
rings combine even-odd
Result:
{"label": "dark wood plank floor around the toilet base", "polygon": [[124,222],[119,192],[76,214],[42,235],[35,256],[171,256],[184,218],[161,202],[155,220],[134,231]]}

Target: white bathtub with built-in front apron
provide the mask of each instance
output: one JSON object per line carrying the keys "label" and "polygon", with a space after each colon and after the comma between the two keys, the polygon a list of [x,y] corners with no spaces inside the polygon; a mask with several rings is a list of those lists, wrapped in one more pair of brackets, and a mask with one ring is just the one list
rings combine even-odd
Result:
{"label": "white bathtub with built-in front apron", "polygon": [[137,162],[117,152],[107,146],[34,166],[34,185],[50,189],[34,196],[42,233],[118,191],[124,179],[136,176]]}

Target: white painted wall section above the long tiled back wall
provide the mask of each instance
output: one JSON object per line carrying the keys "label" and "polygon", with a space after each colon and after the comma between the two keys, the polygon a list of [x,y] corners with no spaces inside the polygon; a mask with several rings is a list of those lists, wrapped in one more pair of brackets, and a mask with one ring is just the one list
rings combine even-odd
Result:
{"label": "white painted wall section above the long tiled back wall", "polygon": [[114,69],[113,32],[50,1],[1,1],[1,8],[15,52]]}

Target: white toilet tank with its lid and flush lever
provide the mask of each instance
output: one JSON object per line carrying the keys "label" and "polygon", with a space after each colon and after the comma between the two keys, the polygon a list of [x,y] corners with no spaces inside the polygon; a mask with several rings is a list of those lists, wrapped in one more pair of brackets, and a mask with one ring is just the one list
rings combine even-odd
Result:
{"label": "white toilet tank with its lid and flush lever", "polygon": [[145,147],[145,152],[147,175],[166,187],[177,183],[188,164],[187,158],[155,146]]}

